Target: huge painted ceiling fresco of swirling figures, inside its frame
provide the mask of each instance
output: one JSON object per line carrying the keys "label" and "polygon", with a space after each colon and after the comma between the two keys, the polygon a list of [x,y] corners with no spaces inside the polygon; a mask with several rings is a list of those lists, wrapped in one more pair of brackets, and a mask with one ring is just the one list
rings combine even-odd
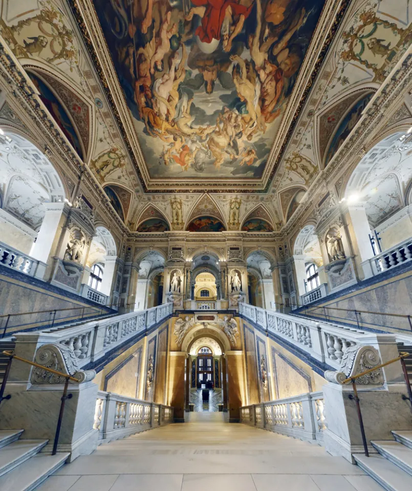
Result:
{"label": "huge painted ceiling fresco of swirling figures, inside its frame", "polygon": [[262,177],[323,4],[94,0],[151,178]]}

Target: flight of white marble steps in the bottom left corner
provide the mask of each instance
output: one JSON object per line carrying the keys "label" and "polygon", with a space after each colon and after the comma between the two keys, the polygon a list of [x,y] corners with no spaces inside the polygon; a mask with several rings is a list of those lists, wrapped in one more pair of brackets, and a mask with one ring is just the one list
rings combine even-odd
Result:
{"label": "flight of white marble steps in the bottom left corner", "polygon": [[57,471],[69,453],[40,453],[49,440],[23,440],[24,430],[0,430],[0,489],[31,491]]}

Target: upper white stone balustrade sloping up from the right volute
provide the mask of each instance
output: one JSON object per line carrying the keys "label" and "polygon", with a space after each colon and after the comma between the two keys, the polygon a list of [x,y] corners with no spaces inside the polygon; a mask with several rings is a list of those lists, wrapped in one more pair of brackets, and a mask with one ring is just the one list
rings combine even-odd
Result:
{"label": "upper white stone balustrade sloping up from the right volute", "polygon": [[396,340],[407,344],[412,341],[412,338],[406,335],[376,334],[353,327],[281,314],[245,303],[239,304],[239,314],[259,328],[286,340],[334,369],[339,368],[343,353],[349,346],[377,346],[383,340],[388,343],[395,343]]}

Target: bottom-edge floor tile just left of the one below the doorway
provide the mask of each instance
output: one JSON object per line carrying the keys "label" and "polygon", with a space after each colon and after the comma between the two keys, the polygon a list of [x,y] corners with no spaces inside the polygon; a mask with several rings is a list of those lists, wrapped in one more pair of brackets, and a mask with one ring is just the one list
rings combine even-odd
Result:
{"label": "bottom-edge floor tile just left of the one below the doorway", "polygon": [[123,474],[110,491],[181,491],[183,474]]}

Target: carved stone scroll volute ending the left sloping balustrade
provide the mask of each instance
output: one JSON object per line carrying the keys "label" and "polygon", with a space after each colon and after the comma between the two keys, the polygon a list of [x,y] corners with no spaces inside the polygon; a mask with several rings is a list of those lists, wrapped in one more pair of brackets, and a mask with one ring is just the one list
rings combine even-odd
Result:
{"label": "carved stone scroll volute ending the left sloping balustrade", "polygon": [[[96,376],[94,370],[80,370],[74,351],[64,344],[44,344],[40,346],[34,357],[35,363],[51,368],[64,375],[77,378],[80,383],[93,380]],[[66,377],[49,372],[44,368],[33,368],[32,384],[64,384]]]}

